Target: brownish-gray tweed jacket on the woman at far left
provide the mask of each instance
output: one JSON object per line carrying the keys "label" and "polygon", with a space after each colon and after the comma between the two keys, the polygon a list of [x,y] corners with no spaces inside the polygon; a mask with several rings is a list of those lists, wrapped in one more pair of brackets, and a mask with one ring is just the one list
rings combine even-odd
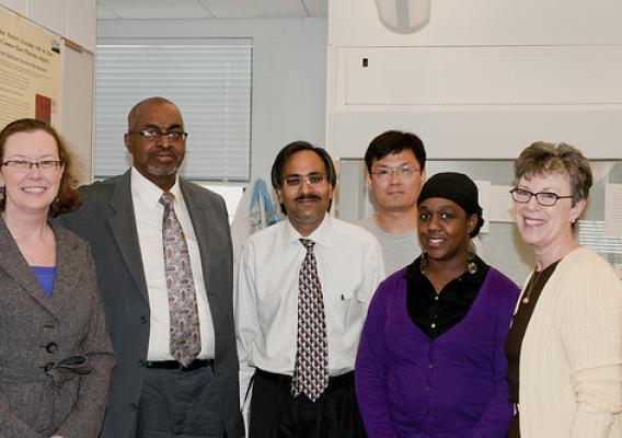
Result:
{"label": "brownish-gray tweed jacket on the woman at far left", "polygon": [[53,224],[54,290],[45,298],[0,219],[0,436],[95,438],[114,355],[89,245]]}

